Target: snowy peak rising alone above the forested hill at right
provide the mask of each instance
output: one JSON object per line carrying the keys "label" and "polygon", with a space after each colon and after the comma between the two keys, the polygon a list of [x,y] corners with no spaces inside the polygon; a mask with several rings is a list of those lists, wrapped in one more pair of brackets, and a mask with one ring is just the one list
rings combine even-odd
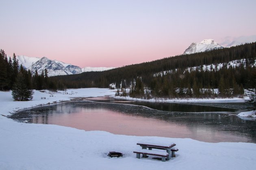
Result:
{"label": "snowy peak rising alone above the forested hill at right", "polygon": [[192,43],[183,54],[193,54],[204,51],[210,51],[213,49],[222,49],[223,46],[216,43],[213,39],[202,40],[200,43]]}

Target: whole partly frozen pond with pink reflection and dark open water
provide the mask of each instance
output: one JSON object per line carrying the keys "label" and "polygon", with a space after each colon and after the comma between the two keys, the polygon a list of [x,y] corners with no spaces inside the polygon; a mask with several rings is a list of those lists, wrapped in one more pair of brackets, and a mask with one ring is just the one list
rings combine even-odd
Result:
{"label": "whole partly frozen pond with pink reflection and dark open water", "polygon": [[40,106],[23,110],[11,118],[28,123],[103,130],[113,134],[192,138],[205,142],[256,142],[256,121],[236,116],[234,108],[242,109],[244,104],[233,104],[230,108],[232,104],[198,106],[116,100],[108,100],[115,103],[106,103],[104,98],[94,100],[105,102],[82,101]]}

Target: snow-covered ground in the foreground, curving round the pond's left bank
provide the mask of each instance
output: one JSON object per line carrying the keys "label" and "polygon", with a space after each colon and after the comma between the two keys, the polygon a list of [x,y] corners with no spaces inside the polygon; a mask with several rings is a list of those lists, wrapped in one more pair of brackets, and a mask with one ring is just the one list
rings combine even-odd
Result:
{"label": "snow-covered ground in the foreground, curving round the pond's left bank", "polygon": [[[163,138],[115,135],[59,125],[18,123],[3,115],[14,110],[70,100],[74,97],[114,95],[110,89],[69,89],[49,94],[35,91],[33,101],[13,102],[11,92],[0,91],[0,169],[1,170],[252,170],[256,144],[242,142],[207,143],[189,138]],[[53,95],[53,97],[50,97]],[[46,99],[41,99],[46,97]],[[179,151],[170,161],[137,159],[141,140],[174,142]],[[107,157],[109,151],[124,157]]]}

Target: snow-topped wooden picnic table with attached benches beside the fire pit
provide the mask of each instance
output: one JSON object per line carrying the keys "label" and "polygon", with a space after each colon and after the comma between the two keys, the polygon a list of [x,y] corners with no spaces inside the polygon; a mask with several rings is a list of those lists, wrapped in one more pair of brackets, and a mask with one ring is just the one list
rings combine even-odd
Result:
{"label": "snow-topped wooden picnic table with attached benches beside the fire pit", "polygon": [[[140,145],[142,148],[140,151],[133,152],[133,153],[137,153],[137,158],[140,157],[140,154],[143,155],[142,157],[147,157],[147,155],[156,155],[156,156],[161,156],[162,161],[165,161],[165,157],[167,160],[169,160],[171,157],[176,157],[175,152],[178,151],[177,148],[174,148],[174,146],[176,146],[175,143],[169,143],[169,142],[158,143],[158,142],[141,141],[141,142],[138,142],[137,144]],[[155,151],[155,150],[152,151],[152,149],[166,150],[166,153],[161,151]]]}

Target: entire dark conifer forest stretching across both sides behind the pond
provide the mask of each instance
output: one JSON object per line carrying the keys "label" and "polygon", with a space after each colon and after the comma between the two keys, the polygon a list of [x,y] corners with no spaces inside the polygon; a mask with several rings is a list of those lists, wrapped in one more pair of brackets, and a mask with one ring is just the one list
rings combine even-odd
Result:
{"label": "entire dark conifer forest stretching across both sides behind the pond", "polygon": [[31,75],[30,70],[17,66],[15,54],[13,60],[3,50],[0,55],[2,90],[13,89],[22,74],[28,89],[108,88],[113,83],[117,95],[139,98],[234,97],[243,95],[245,89],[255,91],[256,43],[56,77],[48,77],[47,70]]}

